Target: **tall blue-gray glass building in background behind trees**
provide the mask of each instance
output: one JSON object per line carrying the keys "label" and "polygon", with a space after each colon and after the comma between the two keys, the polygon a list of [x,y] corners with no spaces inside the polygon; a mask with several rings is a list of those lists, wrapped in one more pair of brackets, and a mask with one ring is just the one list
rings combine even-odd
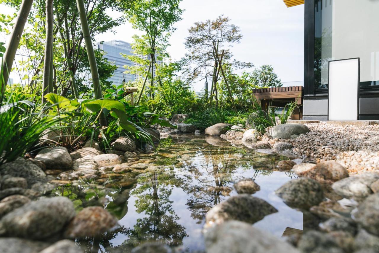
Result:
{"label": "tall blue-gray glass building in background behind trees", "polygon": [[97,49],[102,49],[106,52],[105,58],[108,61],[114,63],[117,66],[117,69],[114,71],[112,77],[108,81],[113,82],[115,85],[122,83],[122,79],[125,77],[125,82],[134,81],[135,76],[132,74],[124,74],[124,66],[133,66],[131,60],[125,59],[121,54],[133,55],[132,47],[130,43],[121,40],[111,40],[107,42],[97,43]]}

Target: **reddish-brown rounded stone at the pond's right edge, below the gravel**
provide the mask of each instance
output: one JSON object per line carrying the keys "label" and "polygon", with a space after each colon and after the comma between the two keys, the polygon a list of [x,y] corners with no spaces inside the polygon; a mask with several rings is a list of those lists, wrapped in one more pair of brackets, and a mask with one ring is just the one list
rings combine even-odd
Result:
{"label": "reddish-brown rounded stone at the pond's right edge, below the gravel", "polygon": [[299,177],[310,177],[321,182],[336,182],[349,176],[348,170],[335,161],[323,161],[312,169],[296,173]]}

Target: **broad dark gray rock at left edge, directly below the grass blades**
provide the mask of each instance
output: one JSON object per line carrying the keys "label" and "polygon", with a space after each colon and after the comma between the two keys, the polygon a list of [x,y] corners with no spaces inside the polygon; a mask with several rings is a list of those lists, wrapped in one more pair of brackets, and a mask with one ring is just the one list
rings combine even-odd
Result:
{"label": "broad dark gray rock at left edge, directly below the grass blades", "polygon": [[23,177],[28,181],[28,185],[46,179],[45,172],[42,171],[36,164],[23,158],[5,163],[0,166],[1,175],[9,175],[13,177]]}

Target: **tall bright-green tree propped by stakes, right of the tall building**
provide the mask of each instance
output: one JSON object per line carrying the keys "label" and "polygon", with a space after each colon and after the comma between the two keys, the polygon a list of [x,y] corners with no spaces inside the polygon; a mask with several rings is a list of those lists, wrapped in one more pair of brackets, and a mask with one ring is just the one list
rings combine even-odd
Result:
{"label": "tall bright-green tree propped by stakes, right of the tall building", "polygon": [[[173,24],[182,19],[183,9],[179,8],[180,2],[181,0],[138,0],[128,2],[126,17],[132,23],[133,28],[146,32],[142,36],[135,35],[135,41],[146,45],[142,51],[146,52],[150,58],[149,68],[145,77],[145,80],[147,80],[147,76],[151,71],[150,96],[153,96],[154,65],[157,62],[157,57],[162,57],[162,55],[157,55],[157,49],[160,48],[160,52],[164,52],[164,49],[168,46],[170,33],[176,30]],[[143,90],[141,90],[138,102],[142,93]]]}

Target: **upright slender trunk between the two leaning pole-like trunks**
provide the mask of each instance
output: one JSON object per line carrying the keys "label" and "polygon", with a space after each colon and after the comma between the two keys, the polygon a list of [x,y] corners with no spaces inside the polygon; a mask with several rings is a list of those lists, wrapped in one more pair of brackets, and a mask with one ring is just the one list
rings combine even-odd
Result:
{"label": "upright slender trunk between the two leaning pole-like trunks", "polygon": [[50,89],[50,67],[52,63],[53,45],[53,0],[46,0],[46,41],[44,59],[44,77],[42,80],[42,103],[46,102],[45,95]]}

